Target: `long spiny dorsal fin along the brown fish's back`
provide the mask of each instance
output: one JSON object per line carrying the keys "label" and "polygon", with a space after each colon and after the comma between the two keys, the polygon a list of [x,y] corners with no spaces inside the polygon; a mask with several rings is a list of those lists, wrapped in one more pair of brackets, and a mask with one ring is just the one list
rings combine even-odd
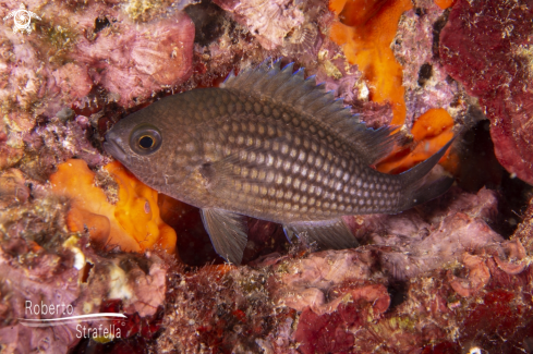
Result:
{"label": "long spiny dorsal fin along the brown fish's back", "polygon": [[303,117],[317,120],[351,144],[368,164],[387,156],[399,134],[396,126],[378,130],[366,127],[346,108],[342,99],[335,99],[325,85],[316,85],[315,76],[304,77],[303,69],[293,72],[293,63],[283,69],[280,61],[265,60],[256,68],[247,68],[239,75],[231,73],[220,85],[237,94],[254,96],[259,100],[270,99],[281,106],[289,106]]}

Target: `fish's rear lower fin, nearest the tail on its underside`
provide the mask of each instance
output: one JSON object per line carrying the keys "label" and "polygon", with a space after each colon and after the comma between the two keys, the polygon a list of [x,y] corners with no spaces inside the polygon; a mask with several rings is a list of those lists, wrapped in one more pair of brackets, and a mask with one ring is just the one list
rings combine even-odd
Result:
{"label": "fish's rear lower fin, nearest the tail on its underside", "polygon": [[307,237],[310,242],[316,242],[323,248],[346,249],[359,246],[358,240],[342,218],[295,222],[284,225],[283,230],[288,239],[292,232],[299,237]]}

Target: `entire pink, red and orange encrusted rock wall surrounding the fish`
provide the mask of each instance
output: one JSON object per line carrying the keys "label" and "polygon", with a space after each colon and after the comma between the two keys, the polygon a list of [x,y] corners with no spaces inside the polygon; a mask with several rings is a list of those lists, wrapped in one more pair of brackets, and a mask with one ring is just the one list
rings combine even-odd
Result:
{"label": "entire pink, red and orange encrusted rock wall surrounding the fish", "polygon": [[[41,17],[32,33],[0,28],[2,351],[533,352],[532,193],[518,181],[532,183],[531,1],[24,4]],[[0,1],[0,17],[19,7]],[[458,136],[441,160],[458,185],[402,213],[346,217],[355,249],[289,244],[249,219],[243,265],[223,264],[197,209],[101,144],[129,113],[267,58],[316,75],[370,126],[398,125],[380,171]],[[75,322],[24,326],[53,317],[26,301],[128,320],[86,324],[120,338],[80,338]]]}

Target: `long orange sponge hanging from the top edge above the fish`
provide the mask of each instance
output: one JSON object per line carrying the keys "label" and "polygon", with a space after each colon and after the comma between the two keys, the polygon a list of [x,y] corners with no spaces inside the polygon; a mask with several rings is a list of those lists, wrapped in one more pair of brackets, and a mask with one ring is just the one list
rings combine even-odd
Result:
{"label": "long orange sponge hanging from the top edge above the fish", "polygon": [[405,120],[402,68],[390,49],[398,22],[412,9],[411,0],[331,0],[329,9],[339,16],[330,38],[343,47],[351,64],[358,64],[371,90],[371,100],[392,107],[392,125]]}

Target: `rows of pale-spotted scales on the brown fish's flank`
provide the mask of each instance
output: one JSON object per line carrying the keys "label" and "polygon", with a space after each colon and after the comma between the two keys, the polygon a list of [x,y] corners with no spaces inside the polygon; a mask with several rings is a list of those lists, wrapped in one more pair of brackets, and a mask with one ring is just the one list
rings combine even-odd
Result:
{"label": "rows of pale-spotted scales on the brown fish's flank", "polygon": [[[244,212],[252,206],[258,210],[252,216],[281,223],[320,220],[346,212],[396,210],[398,181],[388,176],[381,176],[379,181],[378,173],[371,169],[359,173],[360,159],[347,144],[328,147],[334,142],[329,132],[315,129],[312,133],[310,127],[314,125],[307,124],[303,129],[294,112],[272,109],[269,102],[252,105],[234,97],[233,101],[226,100],[223,105],[235,108],[231,110],[231,118],[206,112],[213,115],[204,117],[202,121],[213,122],[213,130],[231,133],[226,139],[204,138],[206,151],[211,146],[228,146],[225,157],[239,156],[231,162],[234,173],[228,181],[232,186],[229,188],[231,202],[223,203],[225,208]],[[265,123],[269,121],[271,123]],[[318,132],[324,133],[322,137]],[[265,147],[266,142],[270,142],[270,146]],[[262,156],[261,160],[258,156]],[[241,168],[243,164],[247,167]],[[253,170],[256,170],[254,174],[251,173]],[[253,188],[254,185],[257,188]]]}

